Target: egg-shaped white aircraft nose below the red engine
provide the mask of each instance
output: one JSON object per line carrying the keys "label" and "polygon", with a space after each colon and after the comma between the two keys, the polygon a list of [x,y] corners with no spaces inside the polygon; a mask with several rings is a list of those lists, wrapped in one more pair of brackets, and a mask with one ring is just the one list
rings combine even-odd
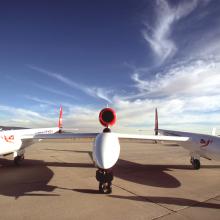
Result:
{"label": "egg-shaped white aircraft nose below the red engine", "polygon": [[102,169],[109,169],[115,165],[120,154],[120,144],[114,133],[101,133],[96,137],[93,148],[93,159]]}

